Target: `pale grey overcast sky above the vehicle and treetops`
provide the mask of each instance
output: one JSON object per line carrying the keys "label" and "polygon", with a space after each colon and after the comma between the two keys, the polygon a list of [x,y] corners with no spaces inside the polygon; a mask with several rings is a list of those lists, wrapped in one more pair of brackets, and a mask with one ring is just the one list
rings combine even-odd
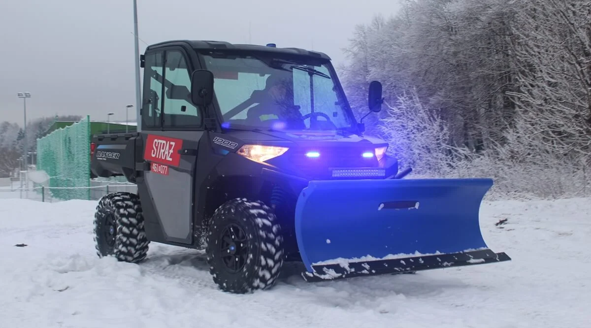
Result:
{"label": "pale grey overcast sky above the vehicle and treetops", "polygon": [[[139,51],[176,39],[276,43],[323,51],[337,65],[355,25],[397,8],[397,0],[138,0]],[[132,0],[0,0],[0,31],[0,121],[22,125],[22,91],[32,94],[27,119],[115,112],[124,121],[125,105],[135,105]]]}

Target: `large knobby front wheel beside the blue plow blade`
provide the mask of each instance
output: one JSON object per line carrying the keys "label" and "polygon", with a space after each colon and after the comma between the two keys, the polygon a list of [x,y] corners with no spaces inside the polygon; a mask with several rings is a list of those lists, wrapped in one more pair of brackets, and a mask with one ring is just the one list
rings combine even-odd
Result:
{"label": "large knobby front wheel beside the blue plow blade", "polygon": [[230,200],[209,221],[206,253],[222,290],[241,294],[270,288],[283,265],[281,227],[264,203]]}

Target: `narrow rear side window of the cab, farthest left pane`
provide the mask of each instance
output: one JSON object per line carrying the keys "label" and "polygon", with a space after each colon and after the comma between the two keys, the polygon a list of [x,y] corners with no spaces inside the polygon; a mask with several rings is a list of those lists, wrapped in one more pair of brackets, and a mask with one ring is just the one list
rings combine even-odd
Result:
{"label": "narrow rear side window of the cab, farthest left pane", "polygon": [[146,128],[160,127],[162,115],[162,83],[163,54],[147,54],[144,65],[144,103],[142,104],[142,126]]}

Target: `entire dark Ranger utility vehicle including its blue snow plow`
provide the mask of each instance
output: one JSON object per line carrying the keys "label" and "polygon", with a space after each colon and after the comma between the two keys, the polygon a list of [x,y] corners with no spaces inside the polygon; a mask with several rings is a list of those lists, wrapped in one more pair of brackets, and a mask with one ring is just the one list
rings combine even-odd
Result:
{"label": "entire dark Ranger utility vehicle including its blue snow plow", "polygon": [[[510,259],[480,233],[492,180],[403,178],[411,170],[364,135],[326,54],[178,40],[140,62],[141,131],[92,137],[92,176],[137,184],[99,200],[99,256],[204,249],[232,293],[271,287],[284,261],[319,281]],[[368,114],[382,100],[369,83]]]}

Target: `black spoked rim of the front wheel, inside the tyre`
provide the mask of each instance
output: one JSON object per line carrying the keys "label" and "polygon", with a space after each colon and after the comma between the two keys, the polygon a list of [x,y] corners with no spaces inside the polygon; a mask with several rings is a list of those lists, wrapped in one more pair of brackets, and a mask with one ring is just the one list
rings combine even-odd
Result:
{"label": "black spoked rim of the front wheel, inside the tyre", "polygon": [[232,273],[241,271],[248,259],[248,237],[244,230],[235,223],[227,225],[219,245],[225,269]]}

